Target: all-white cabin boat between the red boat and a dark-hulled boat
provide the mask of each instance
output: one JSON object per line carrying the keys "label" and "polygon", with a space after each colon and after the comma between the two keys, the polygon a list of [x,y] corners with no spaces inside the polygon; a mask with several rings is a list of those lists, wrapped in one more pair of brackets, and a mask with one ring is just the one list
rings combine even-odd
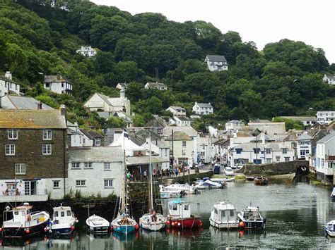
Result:
{"label": "all-white cabin boat between the red boat and a dark-hulled boat", "polygon": [[218,202],[211,210],[209,223],[219,229],[237,228],[239,221],[237,220],[235,207],[232,204],[225,203],[225,201]]}

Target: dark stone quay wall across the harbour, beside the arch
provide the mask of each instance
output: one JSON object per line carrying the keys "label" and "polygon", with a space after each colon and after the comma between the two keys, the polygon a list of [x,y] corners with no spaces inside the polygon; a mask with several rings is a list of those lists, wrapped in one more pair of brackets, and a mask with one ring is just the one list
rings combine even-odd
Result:
{"label": "dark stone quay wall across the harbour, beside the arch", "polygon": [[261,165],[246,165],[245,175],[285,175],[288,173],[296,173],[297,169],[303,166],[307,169],[309,168],[308,161],[285,161],[280,163],[268,163]]}

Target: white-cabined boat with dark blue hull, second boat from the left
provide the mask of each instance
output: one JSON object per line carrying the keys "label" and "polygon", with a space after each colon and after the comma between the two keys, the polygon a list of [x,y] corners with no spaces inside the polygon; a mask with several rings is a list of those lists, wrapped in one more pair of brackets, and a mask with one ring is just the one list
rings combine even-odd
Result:
{"label": "white-cabined boat with dark blue hull, second boat from the left", "polygon": [[74,224],[78,223],[69,206],[57,206],[52,208],[54,213],[49,225],[52,235],[71,235],[74,232]]}

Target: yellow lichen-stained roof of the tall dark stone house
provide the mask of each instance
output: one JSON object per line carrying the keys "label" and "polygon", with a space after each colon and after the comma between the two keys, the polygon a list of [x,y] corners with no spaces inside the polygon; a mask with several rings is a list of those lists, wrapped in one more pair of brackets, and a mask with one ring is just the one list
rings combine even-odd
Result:
{"label": "yellow lichen-stained roof of the tall dark stone house", "polygon": [[0,129],[66,129],[60,111],[45,109],[0,109]]}

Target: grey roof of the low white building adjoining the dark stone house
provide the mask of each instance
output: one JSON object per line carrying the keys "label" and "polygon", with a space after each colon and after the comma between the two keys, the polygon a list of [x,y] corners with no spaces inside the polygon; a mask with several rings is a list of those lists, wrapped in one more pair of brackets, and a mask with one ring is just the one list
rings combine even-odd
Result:
{"label": "grey roof of the low white building adjoining the dark stone house", "polygon": [[121,146],[99,146],[69,149],[69,162],[122,162]]}

